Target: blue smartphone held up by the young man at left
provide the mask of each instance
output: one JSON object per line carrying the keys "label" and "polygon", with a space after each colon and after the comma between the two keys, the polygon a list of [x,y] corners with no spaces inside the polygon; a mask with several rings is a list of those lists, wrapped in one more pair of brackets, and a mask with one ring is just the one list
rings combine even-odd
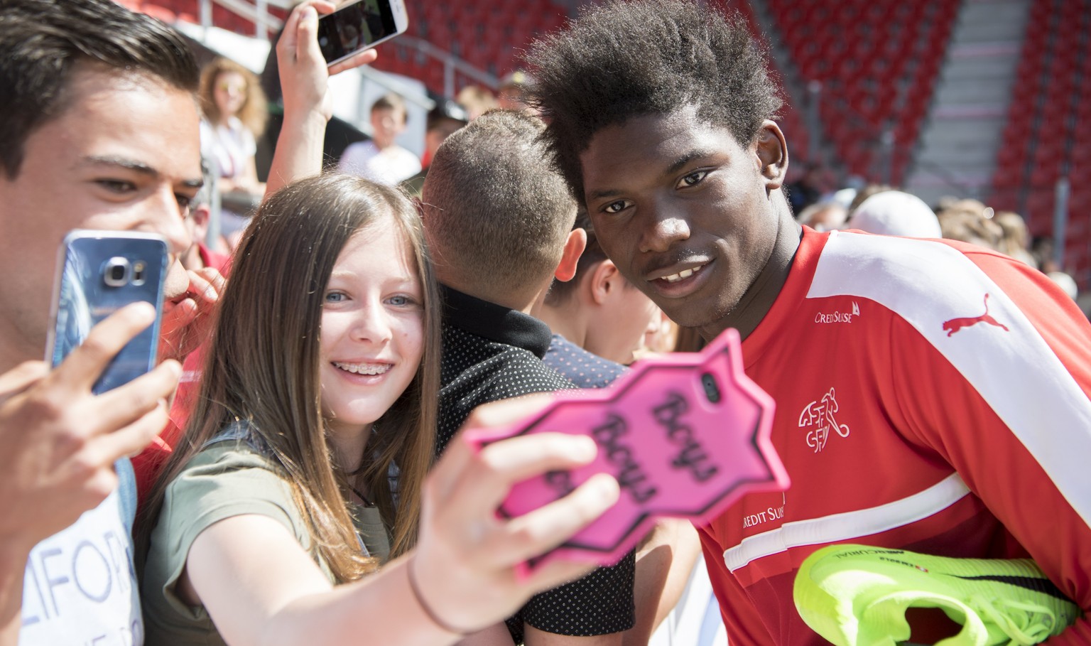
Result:
{"label": "blue smartphone held up by the young man at left", "polygon": [[146,301],[155,306],[155,323],[113,357],[92,392],[116,388],[154,368],[167,262],[161,236],[70,231],[58,254],[46,361],[56,368],[99,321],[131,302]]}

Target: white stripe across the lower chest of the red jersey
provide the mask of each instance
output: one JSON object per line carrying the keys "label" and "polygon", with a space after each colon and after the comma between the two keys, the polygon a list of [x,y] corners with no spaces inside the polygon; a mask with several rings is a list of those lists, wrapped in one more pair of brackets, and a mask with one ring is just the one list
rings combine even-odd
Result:
{"label": "white stripe across the lower chest of the red jersey", "polygon": [[747,536],[741,543],[723,552],[723,562],[728,570],[734,572],[756,559],[791,548],[852,540],[897,529],[946,510],[968,493],[970,490],[962,478],[958,474],[951,474],[909,498],[866,510],[793,521],[777,529]]}

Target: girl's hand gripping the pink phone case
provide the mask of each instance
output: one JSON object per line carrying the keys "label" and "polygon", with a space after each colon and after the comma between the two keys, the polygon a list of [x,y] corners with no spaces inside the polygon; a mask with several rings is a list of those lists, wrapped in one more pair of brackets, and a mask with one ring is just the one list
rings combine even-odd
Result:
{"label": "girl's hand gripping the pink phone case", "polygon": [[[530,595],[587,574],[588,563],[555,562],[516,576],[523,562],[585,527],[618,499],[618,483],[600,475],[571,495],[519,518],[496,517],[508,489],[532,474],[575,468],[595,456],[587,438],[530,434],[478,450],[463,441],[482,429],[511,427],[550,397],[520,397],[476,408],[425,479],[415,578],[435,615],[470,631],[511,617]],[[395,563],[391,564],[392,566]],[[503,632],[508,643],[507,631]]]}

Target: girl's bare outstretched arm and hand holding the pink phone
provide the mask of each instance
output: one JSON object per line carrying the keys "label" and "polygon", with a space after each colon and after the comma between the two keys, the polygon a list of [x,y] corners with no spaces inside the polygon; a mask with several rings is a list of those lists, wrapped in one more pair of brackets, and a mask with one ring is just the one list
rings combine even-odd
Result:
{"label": "girl's bare outstretched arm and hand holding the pink phone", "polygon": [[[526,399],[482,407],[467,428],[509,423]],[[590,567],[555,562],[519,579],[515,565],[560,543],[609,509],[616,481],[597,476],[571,495],[500,519],[511,487],[594,458],[586,438],[546,434],[480,453],[456,439],[424,487],[417,548],[359,582],[333,587],[295,537],[263,516],[235,516],[201,533],[187,558],[182,591],[203,605],[231,646],[454,644],[495,624],[532,594]]]}

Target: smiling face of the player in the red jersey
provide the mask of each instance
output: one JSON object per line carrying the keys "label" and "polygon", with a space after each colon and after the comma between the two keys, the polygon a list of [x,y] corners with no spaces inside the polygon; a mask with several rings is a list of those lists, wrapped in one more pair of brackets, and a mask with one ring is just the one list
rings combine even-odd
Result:
{"label": "smiling face of the player in the red jersey", "polygon": [[579,157],[603,251],[680,325],[719,331],[772,254],[756,144],[693,110],[597,132]]}

